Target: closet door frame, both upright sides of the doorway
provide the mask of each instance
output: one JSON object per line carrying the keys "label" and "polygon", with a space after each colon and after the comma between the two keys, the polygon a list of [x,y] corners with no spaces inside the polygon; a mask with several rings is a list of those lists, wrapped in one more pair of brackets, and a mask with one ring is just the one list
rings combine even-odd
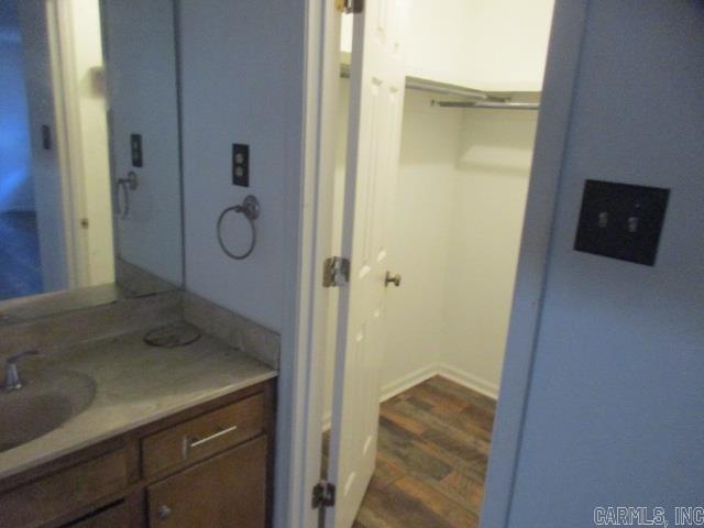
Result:
{"label": "closet door frame, both upright sides of the doorway", "polygon": [[[287,292],[287,306],[294,309],[285,317],[282,343],[279,394],[290,398],[290,409],[287,428],[278,439],[279,461],[285,461],[278,464],[276,480],[275,526],[280,528],[317,526],[318,515],[310,507],[310,497],[320,475],[323,419],[326,358],[320,343],[324,343],[323,308],[329,290],[319,285],[322,258],[330,250],[331,217],[327,216],[328,205],[321,202],[321,197],[332,180],[327,163],[334,160],[336,134],[326,132],[330,120],[334,121],[337,108],[340,14],[332,0],[306,0],[306,8],[302,182],[288,195],[292,209],[287,213],[289,224],[298,229],[288,253],[297,277]],[[509,520],[587,8],[587,0],[556,0],[485,485],[483,527],[506,527]],[[287,350],[292,352],[290,360],[286,360]]]}

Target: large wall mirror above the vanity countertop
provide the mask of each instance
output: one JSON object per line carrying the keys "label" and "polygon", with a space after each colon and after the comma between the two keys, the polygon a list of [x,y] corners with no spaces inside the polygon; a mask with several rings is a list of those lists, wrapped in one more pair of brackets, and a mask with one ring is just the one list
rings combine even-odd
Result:
{"label": "large wall mirror above the vanity countertop", "polygon": [[0,134],[0,314],[183,284],[172,0],[2,0]]}

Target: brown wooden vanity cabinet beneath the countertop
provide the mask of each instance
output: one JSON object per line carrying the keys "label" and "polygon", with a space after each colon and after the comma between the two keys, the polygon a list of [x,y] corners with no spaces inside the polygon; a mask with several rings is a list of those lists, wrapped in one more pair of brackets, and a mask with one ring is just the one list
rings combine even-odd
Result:
{"label": "brown wooden vanity cabinet beneath the countertop", "polygon": [[266,528],[273,381],[0,480],[0,527]]}

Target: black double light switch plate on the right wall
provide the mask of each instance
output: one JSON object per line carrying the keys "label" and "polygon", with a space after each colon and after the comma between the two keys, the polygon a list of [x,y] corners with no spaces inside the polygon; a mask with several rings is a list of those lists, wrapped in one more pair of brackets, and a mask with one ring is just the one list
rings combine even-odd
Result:
{"label": "black double light switch plate on the right wall", "polygon": [[653,266],[669,189],[587,179],[574,249]]}

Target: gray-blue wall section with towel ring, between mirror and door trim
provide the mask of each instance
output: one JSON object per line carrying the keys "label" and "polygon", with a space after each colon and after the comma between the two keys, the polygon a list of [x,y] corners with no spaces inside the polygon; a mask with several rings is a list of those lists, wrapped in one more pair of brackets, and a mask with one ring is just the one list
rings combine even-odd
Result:
{"label": "gray-blue wall section with towel ring, between mirror and door trim", "polygon": [[[300,186],[302,20],[298,2],[180,2],[186,287],[280,331],[284,293],[296,280],[286,244],[292,193]],[[232,143],[250,144],[250,188],[232,185]],[[219,248],[220,211],[255,195],[257,244],[244,261]],[[293,197],[295,198],[295,197]],[[230,250],[250,228],[231,215]]]}

